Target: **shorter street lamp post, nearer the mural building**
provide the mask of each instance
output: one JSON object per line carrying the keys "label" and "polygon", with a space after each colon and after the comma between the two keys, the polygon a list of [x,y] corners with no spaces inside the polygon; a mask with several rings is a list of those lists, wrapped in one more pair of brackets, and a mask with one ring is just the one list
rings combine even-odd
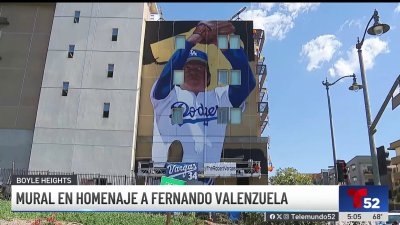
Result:
{"label": "shorter street lamp post, nearer the mural building", "polygon": [[353,78],[353,84],[349,87],[350,90],[354,90],[357,91],[359,89],[362,88],[361,85],[357,84],[357,80],[356,80],[356,75],[353,73],[352,75],[348,75],[348,76],[343,76],[339,79],[337,79],[335,82],[333,83],[329,83],[328,79],[326,79],[325,81],[322,81],[322,85],[325,86],[326,88],[326,96],[328,98],[328,108],[329,108],[329,123],[331,125],[331,140],[332,140],[332,152],[333,152],[333,169],[335,171],[335,177],[334,177],[334,183],[335,185],[338,184],[338,171],[337,171],[337,166],[336,166],[336,147],[335,147],[335,137],[334,137],[334,133],[333,133],[333,122],[332,122],[332,110],[331,110],[331,98],[329,96],[329,86],[332,86],[334,84],[336,84],[339,80],[346,78],[346,77],[352,77]]}

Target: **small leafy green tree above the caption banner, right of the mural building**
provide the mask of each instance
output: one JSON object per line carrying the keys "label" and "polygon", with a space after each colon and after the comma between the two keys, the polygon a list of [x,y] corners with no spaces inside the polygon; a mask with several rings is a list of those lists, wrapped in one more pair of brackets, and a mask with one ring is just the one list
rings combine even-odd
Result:
{"label": "small leafy green tree above the caption banner, right of the mural building", "polygon": [[312,185],[312,178],[308,175],[299,173],[295,168],[279,168],[276,175],[269,178],[271,185]]}

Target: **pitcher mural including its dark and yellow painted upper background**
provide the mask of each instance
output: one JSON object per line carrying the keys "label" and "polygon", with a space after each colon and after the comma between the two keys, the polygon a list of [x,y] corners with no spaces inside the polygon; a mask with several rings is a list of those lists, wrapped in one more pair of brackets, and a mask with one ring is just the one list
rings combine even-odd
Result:
{"label": "pitcher mural including its dark and yellow painted upper background", "polygon": [[176,142],[178,161],[197,162],[200,170],[220,162],[227,124],[241,117],[256,85],[253,44],[246,21],[147,22],[143,64],[163,65],[148,93],[154,162],[167,162]]}

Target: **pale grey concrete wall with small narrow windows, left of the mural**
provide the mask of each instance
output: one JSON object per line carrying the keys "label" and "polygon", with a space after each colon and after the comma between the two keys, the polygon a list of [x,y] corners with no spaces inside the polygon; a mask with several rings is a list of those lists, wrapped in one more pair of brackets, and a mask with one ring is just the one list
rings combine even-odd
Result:
{"label": "pale grey concrete wall with small narrow windows, left of the mural", "polygon": [[[30,169],[130,173],[144,4],[57,3]],[[75,10],[79,23],[73,23]],[[118,28],[117,41],[111,41],[112,28]],[[73,58],[69,45],[75,45]],[[113,78],[108,64],[115,65]],[[61,95],[64,81],[68,96]],[[109,118],[103,118],[105,102]]]}

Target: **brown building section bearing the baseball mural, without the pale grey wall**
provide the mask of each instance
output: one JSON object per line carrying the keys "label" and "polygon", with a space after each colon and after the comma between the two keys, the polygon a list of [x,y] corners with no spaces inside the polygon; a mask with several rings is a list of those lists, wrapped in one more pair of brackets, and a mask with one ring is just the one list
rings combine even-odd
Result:
{"label": "brown building section bearing the baseball mural, without the pale grey wall", "polygon": [[196,162],[200,173],[207,163],[235,162],[236,172],[215,175],[215,183],[267,182],[263,41],[252,21],[146,22],[135,156],[140,176],[157,180],[141,170],[146,161],[156,170],[166,162]]}

